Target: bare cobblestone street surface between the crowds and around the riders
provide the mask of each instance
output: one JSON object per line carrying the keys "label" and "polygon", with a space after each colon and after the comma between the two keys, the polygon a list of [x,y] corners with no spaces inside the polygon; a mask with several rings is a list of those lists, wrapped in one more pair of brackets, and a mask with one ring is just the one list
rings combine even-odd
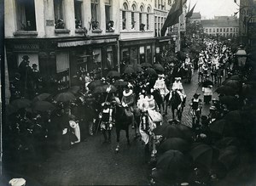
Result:
{"label": "bare cobblestone street surface between the crowds and around the riders", "polygon": [[[183,111],[182,123],[190,126],[189,102],[196,90],[197,93],[201,93],[201,87],[197,85],[196,72],[192,82],[183,82],[183,87],[187,93],[187,104]],[[208,107],[204,105],[202,114],[207,114]],[[170,118],[169,111],[168,116],[165,116],[164,125]],[[133,138],[134,133],[131,130],[130,132]],[[114,152],[116,145],[114,130],[112,144],[102,144],[102,141],[102,135],[98,132],[96,136],[88,137],[85,142],[74,146],[73,149],[52,155],[38,172],[33,173],[32,178],[43,185],[148,184],[150,167],[142,141],[132,140],[131,146],[128,146],[125,132],[122,131],[119,154]]]}

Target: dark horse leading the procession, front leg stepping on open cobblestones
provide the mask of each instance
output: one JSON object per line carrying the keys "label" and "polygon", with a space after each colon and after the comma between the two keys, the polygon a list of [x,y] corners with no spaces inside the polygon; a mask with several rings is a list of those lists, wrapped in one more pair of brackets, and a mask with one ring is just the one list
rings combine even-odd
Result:
{"label": "dark horse leading the procession, front leg stepping on open cobblestones", "polygon": [[132,117],[128,117],[125,114],[125,108],[121,105],[116,105],[115,107],[115,131],[116,131],[116,141],[117,147],[116,152],[119,152],[119,138],[121,130],[125,130],[127,144],[130,145],[129,139],[129,125],[131,125]]}

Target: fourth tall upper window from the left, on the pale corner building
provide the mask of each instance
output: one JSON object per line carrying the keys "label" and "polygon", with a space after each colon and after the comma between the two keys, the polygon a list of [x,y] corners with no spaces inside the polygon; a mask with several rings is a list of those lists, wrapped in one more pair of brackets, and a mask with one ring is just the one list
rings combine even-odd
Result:
{"label": "fourth tall upper window from the left, on the pale corner building", "polygon": [[98,0],[90,0],[92,30],[100,29],[100,14]]}

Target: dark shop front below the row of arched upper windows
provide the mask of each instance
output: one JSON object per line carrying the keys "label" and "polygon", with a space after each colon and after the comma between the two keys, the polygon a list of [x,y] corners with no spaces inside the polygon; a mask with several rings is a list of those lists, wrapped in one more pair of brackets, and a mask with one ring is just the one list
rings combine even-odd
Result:
{"label": "dark shop front below the row of arched upper windows", "polygon": [[125,65],[139,65],[154,63],[154,39],[119,40],[120,71],[125,70]]}

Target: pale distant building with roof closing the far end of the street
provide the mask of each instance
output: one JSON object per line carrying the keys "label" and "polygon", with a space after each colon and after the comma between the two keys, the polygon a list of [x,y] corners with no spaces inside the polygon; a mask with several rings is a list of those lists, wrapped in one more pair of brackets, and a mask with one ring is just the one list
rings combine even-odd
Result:
{"label": "pale distant building with roof closing the far end of the street", "polygon": [[237,37],[239,21],[233,16],[215,16],[214,20],[201,20],[204,33],[212,36]]}

